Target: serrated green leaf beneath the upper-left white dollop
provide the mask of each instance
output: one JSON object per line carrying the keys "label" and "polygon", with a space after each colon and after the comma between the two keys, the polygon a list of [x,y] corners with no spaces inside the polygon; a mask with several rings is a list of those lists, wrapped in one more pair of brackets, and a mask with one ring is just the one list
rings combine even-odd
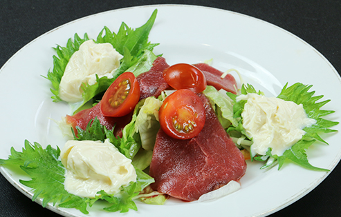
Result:
{"label": "serrated green leaf beneath the upper-left white dollop", "polygon": [[[156,59],[156,56],[152,54],[152,50],[158,45],[158,43],[150,43],[148,41],[149,32],[154,25],[156,14],[157,10],[154,10],[147,23],[135,30],[129,28],[124,22],[120,26],[117,34],[111,32],[107,27],[102,29],[100,34],[98,34],[95,43],[111,43],[113,48],[124,57],[121,60],[120,67],[113,74],[112,79],[108,79],[106,76],[99,79],[98,76],[96,76],[96,83],[94,85],[82,85],[83,100],[71,105],[73,111],[93,99],[96,95],[107,90],[109,85],[129,68],[136,70],[138,73],[141,73],[142,70],[145,70],[145,72],[149,70],[152,63],[151,61],[153,61],[154,58]],[[83,39],[81,39],[78,34],[75,34],[73,40],[68,39],[66,47],[57,45],[57,48],[55,48],[57,56],[53,56],[53,70],[49,70],[46,77],[53,85],[53,88],[50,89],[53,93],[53,96],[51,97],[53,101],[62,101],[59,97],[59,83],[64,74],[66,65],[72,54],[79,50],[80,45],[87,40],[90,40],[87,34],[84,34]]]}

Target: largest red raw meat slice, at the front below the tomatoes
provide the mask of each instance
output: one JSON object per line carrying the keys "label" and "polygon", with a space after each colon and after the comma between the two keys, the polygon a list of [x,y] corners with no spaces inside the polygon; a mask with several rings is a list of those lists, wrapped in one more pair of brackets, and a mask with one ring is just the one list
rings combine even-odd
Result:
{"label": "largest red raw meat slice, at the front below the tomatoes", "polygon": [[226,134],[208,99],[199,94],[205,105],[206,120],[198,136],[178,140],[159,130],[149,174],[151,187],[174,198],[192,201],[230,180],[238,181],[246,172],[243,154]]}

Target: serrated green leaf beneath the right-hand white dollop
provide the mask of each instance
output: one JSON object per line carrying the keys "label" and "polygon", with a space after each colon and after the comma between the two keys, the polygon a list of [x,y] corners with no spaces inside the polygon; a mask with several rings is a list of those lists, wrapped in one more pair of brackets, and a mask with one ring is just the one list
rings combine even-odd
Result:
{"label": "serrated green leaf beneath the right-hand white dollop", "polygon": [[[337,130],[331,130],[329,127],[333,127],[334,125],[338,125],[338,122],[329,121],[322,116],[326,116],[327,114],[331,114],[334,111],[331,110],[320,110],[320,108],[328,103],[330,100],[317,102],[322,99],[323,96],[314,96],[315,91],[308,92],[312,85],[304,85],[302,83],[295,83],[288,87],[288,83],[283,87],[279,96],[279,99],[283,99],[285,101],[293,101],[297,105],[302,104],[306,114],[309,118],[314,118],[317,122],[310,127],[304,127],[304,131],[306,134],[302,136],[302,139],[295,143],[291,148],[287,149],[282,156],[272,155],[271,149],[268,149],[265,155],[259,155],[257,153],[250,153],[252,160],[255,161],[266,161],[266,164],[261,167],[261,169],[272,167],[278,163],[280,169],[285,162],[291,161],[296,163],[297,165],[304,167],[306,169],[311,169],[315,171],[326,172],[328,169],[323,169],[319,167],[314,167],[310,163],[308,163],[308,157],[306,156],[306,149],[312,145],[315,141],[321,141],[322,143],[326,143],[319,134],[321,133],[331,133],[337,132]],[[263,94],[260,91],[256,91],[252,85],[243,85],[241,87],[241,94],[248,93],[256,93]],[[233,105],[233,113],[234,118],[238,120],[237,126],[231,126],[228,128],[227,132],[232,137],[242,137],[244,136],[249,141],[252,142],[252,138],[248,138],[245,130],[243,129],[243,118],[241,117],[241,113],[243,112],[243,107],[246,103],[246,100],[236,101],[237,95],[232,93],[227,93],[228,96],[234,101]]]}

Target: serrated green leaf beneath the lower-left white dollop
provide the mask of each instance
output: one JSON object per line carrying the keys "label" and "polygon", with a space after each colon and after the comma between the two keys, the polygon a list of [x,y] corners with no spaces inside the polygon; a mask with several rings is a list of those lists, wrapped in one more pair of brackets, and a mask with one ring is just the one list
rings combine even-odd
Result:
{"label": "serrated green leaf beneath the lower-left white dollop", "polygon": [[137,210],[133,198],[139,194],[147,185],[154,183],[154,178],[136,169],[136,182],[121,187],[120,197],[116,198],[112,194],[104,191],[98,192],[95,198],[81,198],[69,194],[64,189],[65,168],[59,158],[60,150],[53,149],[50,145],[43,149],[39,143],[31,144],[25,141],[22,152],[17,152],[11,148],[11,155],[7,160],[1,159],[1,165],[19,165],[32,179],[20,180],[20,183],[33,189],[33,200],[43,198],[42,205],[50,202],[53,205],[57,203],[59,207],[75,208],[84,214],[89,214],[87,206],[92,206],[97,200],[106,200],[109,207],[104,208],[107,211],[126,212],[129,209]]}

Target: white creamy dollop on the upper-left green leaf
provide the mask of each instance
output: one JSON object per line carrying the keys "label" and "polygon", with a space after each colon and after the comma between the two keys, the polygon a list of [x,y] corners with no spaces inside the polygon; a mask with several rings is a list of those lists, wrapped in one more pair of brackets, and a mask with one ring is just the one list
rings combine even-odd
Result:
{"label": "white creamy dollop on the upper-left green leaf", "polygon": [[110,43],[85,41],[66,65],[59,84],[60,98],[68,103],[82,101],[82,83],[95,84],[95,74],[111,79],[122,57]]}

